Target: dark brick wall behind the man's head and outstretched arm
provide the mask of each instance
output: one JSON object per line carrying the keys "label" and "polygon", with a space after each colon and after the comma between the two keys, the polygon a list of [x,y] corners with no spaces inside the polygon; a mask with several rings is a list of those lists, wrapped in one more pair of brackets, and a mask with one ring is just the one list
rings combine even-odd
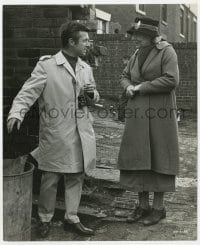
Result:
{"label": "dark brick wall behind the man's head and outstretched arm", "polygon": [[4,87],[21,86],[41,55],[59,49],[59,27],[69,19],[67,6],[4,6]]}

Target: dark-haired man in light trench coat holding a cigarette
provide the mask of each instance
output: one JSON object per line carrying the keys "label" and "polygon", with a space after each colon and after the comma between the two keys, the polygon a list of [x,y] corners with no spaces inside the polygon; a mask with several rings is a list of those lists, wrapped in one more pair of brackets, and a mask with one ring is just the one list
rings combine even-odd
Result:
{"label": "dark-haired man in light trench coat holding a cigarette", "polygon": [[88,31],[77,22],[61,27],[62,50],[40,58],[8,115],[10,133],[14,124],[20,128],[26,112],[38,99],[39,146],[31,155],[43,171],[38,205],[42,237],[50,230],[57,183],[62,174],[65,177],[65,230],[73,229],[83,235],[94,233],[84,227],[77,216],[84,174],[95,167],[96,159],[93,119],[84,93],[94,102],[98,101],[99,94],[91,67],[79,58],[89,47]]}

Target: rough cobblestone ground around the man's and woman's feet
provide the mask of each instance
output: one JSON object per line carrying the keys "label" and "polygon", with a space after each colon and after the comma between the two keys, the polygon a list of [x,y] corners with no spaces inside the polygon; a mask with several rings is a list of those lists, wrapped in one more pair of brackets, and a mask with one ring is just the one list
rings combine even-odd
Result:
{"label": "rough cobblestone ground around the man's and woman's feet", "polygon": [[[93,177],[112,180],[116,183],[119,171],[116,159],[121,142],[124,125],[113,119],[95,118],[94,129],[97,138],[97,170]],[[115,194],[96,193],[99,207],[112,210],[112,215],[105,219],[83,219],[85,224],[96,229],[95,236],[80,237],[74,233],[64,232],[60,220],[53,223],[47,240],[62,241],[144,241],[144,240],[196,240],[197,239],[197,125],[195,119],[184,119],[179,123],[180,174],[177,178],[175,193],[167,193],[165,205],[167,217],[159,224],[144,227],[141,223],[127,224],[125,217],[134,208],[137,195],[113,187]],[[100,171],[101,170],[101,171]],[[98,176],[99,175],[99,176]],[[101,176],[100,176],[101,175]],[[112,188],[110,187],[110,190]],[[87,199],[87,198],[86,198]],[[150,196],[150,200],[152,196]],[[84,203],[84,200],[83,202]],[[97,206],[95,202],[91,206]],[[107,210],[108,211],[108,210]],[[32,240],[41,240],[33,226]]]}

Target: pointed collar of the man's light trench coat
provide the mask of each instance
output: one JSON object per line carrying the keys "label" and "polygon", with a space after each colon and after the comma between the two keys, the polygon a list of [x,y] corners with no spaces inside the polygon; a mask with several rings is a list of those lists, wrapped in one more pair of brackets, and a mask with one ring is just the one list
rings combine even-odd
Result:
{"label": "pointed collar of the man's light trench coat", "polygon": [[[57,65],[63,65],[69,71],[69,73],[76,79],[74,70],[69,64],[68,60],[63,55],[62,51],[59,51],[57,54],[55,54],[55,59]],[[81,60],[81,58],[78,57],[76,63],[76,73],[79,72],[81,69],[83,69],[85,66],[86,64]]]}

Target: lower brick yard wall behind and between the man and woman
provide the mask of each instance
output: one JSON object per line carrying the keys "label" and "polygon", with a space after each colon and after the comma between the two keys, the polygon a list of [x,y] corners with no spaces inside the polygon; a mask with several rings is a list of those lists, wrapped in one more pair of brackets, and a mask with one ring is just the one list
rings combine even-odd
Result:
{"label": "lower brick yard wall behind and between the man and woman", "polygon": [[[118,84],[123,70],[122,57],[134,53],[135,46],[123,35],[96,35],[96,43],[108,49],[108,56],[103,57],[101,65],[94,70],[98,89],[104,97],[117,98],[121,94]],[[197,108],[197,49],[196,43],[174,43],[178,55],[180,84],[177,88],[179,108],[196,112]]]}

